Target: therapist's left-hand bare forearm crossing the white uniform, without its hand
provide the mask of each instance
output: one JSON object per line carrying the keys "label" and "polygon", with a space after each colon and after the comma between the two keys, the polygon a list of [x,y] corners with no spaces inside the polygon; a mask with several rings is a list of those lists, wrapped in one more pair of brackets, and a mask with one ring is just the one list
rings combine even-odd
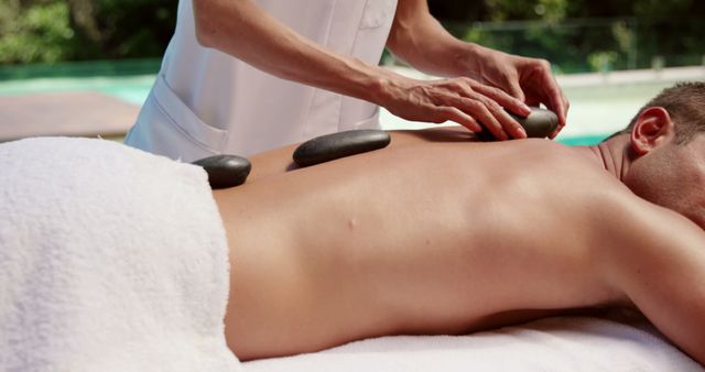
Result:
{"label": "therapist's left-hand bare forearm crossing the white uniform, without its hand", "polygon": [[198,42],[274,76],[373,101],[378,66],[323,48],[251,0],[193,0]]}

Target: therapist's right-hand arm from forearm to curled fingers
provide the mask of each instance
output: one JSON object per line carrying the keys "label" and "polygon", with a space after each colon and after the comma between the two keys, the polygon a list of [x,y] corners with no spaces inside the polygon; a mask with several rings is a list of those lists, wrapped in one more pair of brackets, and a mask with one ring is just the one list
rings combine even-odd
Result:
{"label": "therapist's right-hand arm from forearm to curled fingers", "polygon": [[[547,62],[510,55],[456,39],[433,18],[426,0],[398,1],[387,48],[430,75],[466,76],[499,88],[525,103],[544,103],[558,116],[558,129],[552,138],[565,125],[568,102]],[[482,94],[484,90],[476,91]],[[519,116],[527,113],[498,95],[485,96]],[[482,120],[479,117],[475,119]],[[510,129],[507,130],[512,134]]]}

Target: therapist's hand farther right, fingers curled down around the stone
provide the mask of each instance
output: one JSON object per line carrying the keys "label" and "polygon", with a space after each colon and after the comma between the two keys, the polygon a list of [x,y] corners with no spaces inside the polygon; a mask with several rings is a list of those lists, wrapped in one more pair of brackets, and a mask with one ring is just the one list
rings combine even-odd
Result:
{"label": "therapist's hand farther right, fingers curled down around the stone", "polygon": [[545,59],[521,57],[481,48],[475,53],[473,72],[468,75],[487,85],[495,86],[529,106],[543,103],[558,117],[558,128],[551,134],[555,138],[565,127],[570,102]]}

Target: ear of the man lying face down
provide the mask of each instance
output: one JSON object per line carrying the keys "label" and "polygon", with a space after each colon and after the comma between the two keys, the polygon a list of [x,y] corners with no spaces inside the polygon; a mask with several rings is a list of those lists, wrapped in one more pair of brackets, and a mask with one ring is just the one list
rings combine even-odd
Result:
{"label": "ear of the man lying face down", "polygon": [[631,130],[631,147],[639,155],[670,142],[675,129],[669,111],[662,107],[650,107],[639,114]]}

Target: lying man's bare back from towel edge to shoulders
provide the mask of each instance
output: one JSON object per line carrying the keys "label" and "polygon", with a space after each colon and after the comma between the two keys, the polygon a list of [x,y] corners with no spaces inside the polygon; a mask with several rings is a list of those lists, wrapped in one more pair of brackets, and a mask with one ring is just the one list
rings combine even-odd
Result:
{"label": "lying man's bare back from towel edge to shoulders", "polygon": [[393,135],[389,149],[285,174],[290,149],[265,153],[248,184],[214,193],[239,358],[632,306],[606,264],[631,230],[605,231],[622,217],[615,204],[651,207],[589,149]]}

